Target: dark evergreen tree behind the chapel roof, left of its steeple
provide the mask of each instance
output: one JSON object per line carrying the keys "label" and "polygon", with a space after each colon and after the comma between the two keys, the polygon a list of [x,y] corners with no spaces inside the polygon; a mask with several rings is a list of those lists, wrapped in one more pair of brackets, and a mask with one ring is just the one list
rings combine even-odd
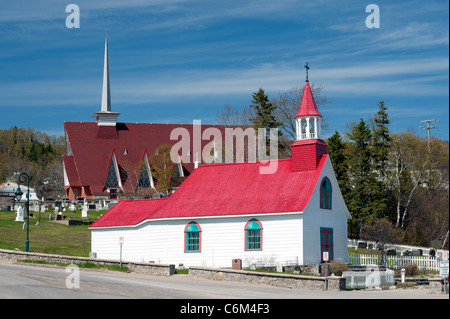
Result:
{"label": "dark evergreen tree behind the chapel roof, left of its steeple", "polygon": [[[258,92],[254,92],[252,96],[253,100],[250,107],[254,109],[255,116],[250,118],[250,122],[253,124],[256,133],[258,133],[259,128],[266,129],[266,144],[269,145],[270,129],[279,128],[282,124],[275,118],[274,110],[277,106],[269,102],[269,98],[262,88],[260,88]],[[278,137],[281,137],[282,135],[281,130],[278,130]],[[283,146],[280,144],[280,139],[278,139],[278,141],[278,152],[280,153],[283,150]],[[268,152],[269,147],[267,147],[266,150]]]}

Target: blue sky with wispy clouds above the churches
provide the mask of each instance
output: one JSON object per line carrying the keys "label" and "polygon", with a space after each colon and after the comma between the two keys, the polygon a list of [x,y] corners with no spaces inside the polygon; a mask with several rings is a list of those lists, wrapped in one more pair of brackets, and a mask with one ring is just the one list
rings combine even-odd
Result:
{"label": "blue sky with wispy clouds above the churches", "polygon": [[[80,28],[66,27],[68,4]],[[365,9],[380,9],[367,28]],[[0,128],[62,135],[100,110],[108,28],[112,110],[121,122],[215,123],[311,83],[331,103],[325,137],[368,119],[384,100],[391,131],[449,139],[449,3],[442,1],[6,1],[0,7]]]}

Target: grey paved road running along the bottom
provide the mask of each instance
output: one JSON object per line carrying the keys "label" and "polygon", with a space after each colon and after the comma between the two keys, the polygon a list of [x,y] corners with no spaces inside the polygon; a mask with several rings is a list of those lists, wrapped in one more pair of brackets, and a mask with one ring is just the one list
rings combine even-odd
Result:
{"label": "grey paved road running along the bottom", "polygon": [[237,282],[114,271],[79,269],[79,288],[75,272],[64,267],[0,263],[0,298],[77,299],[448,299],[430,289],[393,291],[313,291],[277,288]]}

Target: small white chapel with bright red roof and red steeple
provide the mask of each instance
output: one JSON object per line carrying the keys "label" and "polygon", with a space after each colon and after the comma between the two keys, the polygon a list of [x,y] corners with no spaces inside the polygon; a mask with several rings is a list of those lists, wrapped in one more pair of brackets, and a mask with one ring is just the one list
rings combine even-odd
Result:
{"label": "small white chapel with bright red roof and red steeple", "polygon": [[[306,82],[292,158],[201,165],[169,198],[122,200],[95,221],[98,258],[184,266],[348,262],[351,218],[320,139],[319,113]],[[123,239],[122,250],[119,238]]]}

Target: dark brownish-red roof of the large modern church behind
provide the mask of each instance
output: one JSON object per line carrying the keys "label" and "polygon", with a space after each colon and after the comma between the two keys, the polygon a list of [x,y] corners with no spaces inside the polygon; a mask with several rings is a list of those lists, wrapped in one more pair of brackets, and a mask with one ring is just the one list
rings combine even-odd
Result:
{"label": "dark brownish-red roof of the large modern church behind", "polygon": [[[137,124],[117,123],[116,126],[98,126],[95,122],[65,122],[64,128],[71,156],[64,156],[63,161],[70,186],[90,187],[93,194],[104,194],[106,175],[113,153],[120,167],[123,188],[126,192],[134,189],[139,172],[130,171],[144,159],[146,153],[150,158],[162,144],[175,144],[170,140],[175,128],[185,128],[190,134],[190,163],[183,163],[189,172],[194,164],[192,149],[192,124]],[[209,128],[219,129],[225,136],[223,125],[201,125],[202,132]],[[176,136],[177,139],[181,137]],[[201,149],[210,143],[202,140]],[[201,158],[201,154],[199,154]]]}

